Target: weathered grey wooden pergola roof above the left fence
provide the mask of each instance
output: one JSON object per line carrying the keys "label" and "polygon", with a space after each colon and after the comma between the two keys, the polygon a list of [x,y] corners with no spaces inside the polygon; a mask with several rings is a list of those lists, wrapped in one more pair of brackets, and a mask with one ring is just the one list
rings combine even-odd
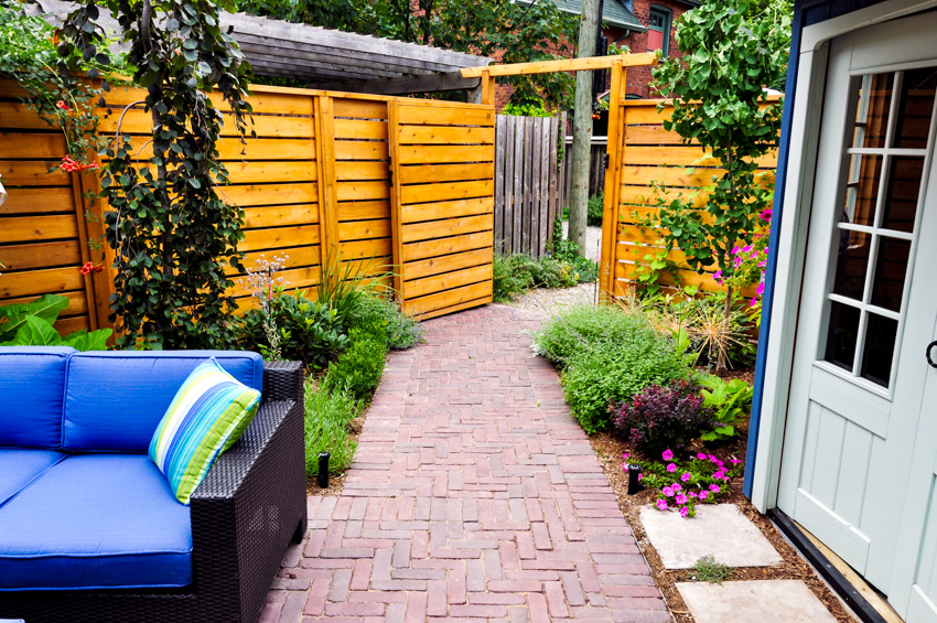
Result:
{"label": "weathered grey wooden pergola roof above the left fence", "polygon": [[[74,9],[74,4],[66,0],[34,1],[39,9],[33,10],[55,25]],[[118,32],[117,20],[104,10],[101,13],[99,23],[105,30]],[[282,76],[316,84],[426,76],[492,62],[487,56],[246,13],[223,11],[219,21],[240,45],[254,73],[259,76]]]}

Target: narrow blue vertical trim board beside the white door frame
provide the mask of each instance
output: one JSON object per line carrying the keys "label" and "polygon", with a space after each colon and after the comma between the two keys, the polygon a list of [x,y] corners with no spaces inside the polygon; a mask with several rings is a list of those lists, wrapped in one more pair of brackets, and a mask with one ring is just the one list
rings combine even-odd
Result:
{"label": "narrow blue vertical trim board beside the white door frame", "polygon": [[745,479],[742,493],[752,497],[752,482],[755,475],[755,458],[758,445],[758,425],[762,419],[762,395],[765,382],[765,364],[771,335],[771,307],[774,300],[774,280],[777,275],[777,245],[780,239],[780,215],[784,205],[784,186],[787,179],[787,160],[790,152],[790,119],[794,116],[797,65],[800,56],[801,8],[794,10],[790,34],[790,55],[787,60],[787,82],[784,85],[784,114],[780,119],[780,144],[777,152],[777,174],[774,182],[774,207],[772,211],[771,236],[768,237],[768,262],[765,270],[765,291],[762,296],[762,326],[758,331],[758,353],[755,356],[755,382],[752,395],[752,417],[748,421],[748,449],[745,453]]}

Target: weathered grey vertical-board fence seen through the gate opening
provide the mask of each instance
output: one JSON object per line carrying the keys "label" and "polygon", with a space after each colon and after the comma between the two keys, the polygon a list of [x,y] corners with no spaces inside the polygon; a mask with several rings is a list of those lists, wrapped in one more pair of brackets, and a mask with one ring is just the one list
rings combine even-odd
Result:
{"label": "weathered grey vertical-board fence seen through the gate opening", "polygon": [[[495,247],[539,258],[552,237],[567,194],[560,168],[560,117],[497,116]],[[563,161],[568,160],[563,158]]]}

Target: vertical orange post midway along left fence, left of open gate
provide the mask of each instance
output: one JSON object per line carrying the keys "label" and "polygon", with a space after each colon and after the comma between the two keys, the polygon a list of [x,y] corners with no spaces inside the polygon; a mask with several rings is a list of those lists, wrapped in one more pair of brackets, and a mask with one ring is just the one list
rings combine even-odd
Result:
{"label": "vertical orange post midway along left fence, left of open gate", "polygon": [[[313,115],[319,181],[319,261],[321,271],[324,272],[326,262],[334,261],[337,267],[342,260],[338,255],[338,186],[335,180],[335,119],[332,98],[325,95],[313,96]],[[320,273],[320,283],[321,276]]]}

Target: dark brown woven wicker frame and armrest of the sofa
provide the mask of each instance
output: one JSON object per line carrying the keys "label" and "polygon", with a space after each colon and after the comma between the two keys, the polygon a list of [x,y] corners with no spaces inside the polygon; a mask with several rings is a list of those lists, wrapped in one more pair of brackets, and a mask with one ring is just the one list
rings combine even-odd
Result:
{"label": "dark brown woven wicker frame and armrest of the sofa", "polygon": [[306,527],[302,366],[265,362],[263,401],[192,496],[193,583],[183,589],[0,592],[0,619],[252,622]]}

